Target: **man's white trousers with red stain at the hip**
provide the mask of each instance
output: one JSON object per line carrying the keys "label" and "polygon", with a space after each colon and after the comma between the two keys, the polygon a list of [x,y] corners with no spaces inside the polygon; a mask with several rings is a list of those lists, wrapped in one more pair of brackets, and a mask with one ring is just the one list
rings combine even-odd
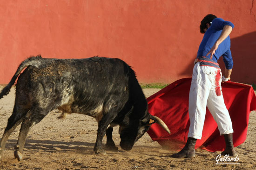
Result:
{"label": "man's white trousers with red stain at the hip", "polygon": [[221,91],[221,78],[220,69],[200,66],[199,62],[195,64],[189,91],[190,126],[188,137],[202,138],[206,106],[216,121],[220,134],[233,133],[229,111]]}

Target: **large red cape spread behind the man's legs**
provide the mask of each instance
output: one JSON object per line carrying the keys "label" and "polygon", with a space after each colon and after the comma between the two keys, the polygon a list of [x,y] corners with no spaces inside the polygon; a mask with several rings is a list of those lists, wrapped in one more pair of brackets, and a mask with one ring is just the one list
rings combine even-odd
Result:
{"label": "large red cape spread behind the man's legs", "polygon": [[[186,143],[189,132],[189,88],[191,78],[180,79],[148,97],[148,112],[161,118],[171,131],[164,131],[153,124],[149,136],[160,145],[171,150],[180,150]],[[256,96],[251,86],[236,83],[222,83],[222,93],[234,129],[234,146],[241,145],[247,135],[249,113],[256,110]],[[217,124],[207,109],[202,139],[196,141],[195,148],[207,151],[224,151],[224,137],[220,136]]]}

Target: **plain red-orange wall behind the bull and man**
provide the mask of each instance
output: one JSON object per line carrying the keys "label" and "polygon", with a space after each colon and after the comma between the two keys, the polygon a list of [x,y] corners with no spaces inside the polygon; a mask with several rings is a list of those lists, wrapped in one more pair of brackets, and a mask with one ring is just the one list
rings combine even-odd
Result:
{"label": "plain red-orange wall behind the bull and man", "polygon": [[[231,80],[256,83],[256,0],[0,0],[0,84],[29,56],[118,57],[139,82],[192,75],[213,13],[234,23]],[[223,67],[223,62],[219,62]]]}

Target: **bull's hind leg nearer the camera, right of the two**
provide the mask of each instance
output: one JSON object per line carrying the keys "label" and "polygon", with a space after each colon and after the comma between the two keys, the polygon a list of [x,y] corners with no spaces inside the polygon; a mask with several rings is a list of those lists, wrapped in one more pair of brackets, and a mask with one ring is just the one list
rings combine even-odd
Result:
{"label": "bull's hind leg nearer the camera, right of the two", "polygon": [[30,128],[39,123],[47,115],[47,113],[48,112],[43,111],[40,108],[33,108],[23,118],[22,124],[20,126],[19,139],[17,145],[15,145],[14,151],[14,157],[19,161],[23,157],[22,152],[27,138],[27,133],[29,132]]}

